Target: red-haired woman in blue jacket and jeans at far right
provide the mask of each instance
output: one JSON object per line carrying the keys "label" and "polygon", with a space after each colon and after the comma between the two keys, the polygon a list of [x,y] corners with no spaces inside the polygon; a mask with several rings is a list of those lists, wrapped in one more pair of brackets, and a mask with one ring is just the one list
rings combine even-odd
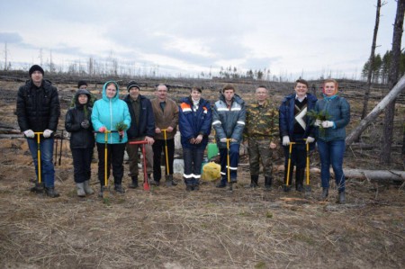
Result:
{"label": "red-haired woman in blue jacket and jeans at far right", "polygon": [[338,96],[338,82],[327,79],[323,85],[323,99],[315,104],[316,112],[324,112],[327,121],[316,121],[321,130],[318,136],[320,152],[320,179],[323,192],[321,199],[329,194],[329,167],[332,165],[338,187],[338,202],[345,203],[345,175],[343,174],[343,156],[345,154],[346,126],[350,121],[350,105],[346,99]]}

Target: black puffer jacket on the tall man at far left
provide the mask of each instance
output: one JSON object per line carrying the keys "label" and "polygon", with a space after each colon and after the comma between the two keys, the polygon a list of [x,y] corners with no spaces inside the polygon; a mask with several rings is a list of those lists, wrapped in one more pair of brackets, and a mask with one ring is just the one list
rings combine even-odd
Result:
{"label": "black puffer jacket on the tall man at far left", "polygon": [[[60,116],[57,88],[48,80],[42,80],[40,87],[28,80],[18,90],[16,112],[21,131],[48,129],[55,132]],[[52,137],[53,133],[50,138]]]}

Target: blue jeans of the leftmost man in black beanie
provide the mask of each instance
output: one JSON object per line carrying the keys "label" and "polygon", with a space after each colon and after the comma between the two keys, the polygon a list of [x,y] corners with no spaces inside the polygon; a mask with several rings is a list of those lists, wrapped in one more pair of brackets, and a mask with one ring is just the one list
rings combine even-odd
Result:
{"label": "blue jeans of the leftmost man in black beanie", "polygon": [[[38,181],[38,144],[37,139],[27,139],[28,147],[31,151],[31,156],[35,165],[35,174]],[[40,174],[41,182],[45,187],[51,188],[55,186],[55,169],[53,167],[53,142],[54,139],[41,139],[40,140]]]}

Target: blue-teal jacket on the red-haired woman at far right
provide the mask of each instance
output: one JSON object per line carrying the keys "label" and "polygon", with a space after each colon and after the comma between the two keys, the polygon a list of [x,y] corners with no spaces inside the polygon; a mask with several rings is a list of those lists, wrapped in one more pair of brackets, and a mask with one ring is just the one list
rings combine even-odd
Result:
{"label": "blue-teal jacket on the red-haired woman at far right", "polygon": [[338,95],[318,100],[315,104],[316,112],[327,112],[328,121],[333,121],[335,126],[319,131],[318,139],[329,142],[346,139],[346,126],[350,122],[350,104]]}

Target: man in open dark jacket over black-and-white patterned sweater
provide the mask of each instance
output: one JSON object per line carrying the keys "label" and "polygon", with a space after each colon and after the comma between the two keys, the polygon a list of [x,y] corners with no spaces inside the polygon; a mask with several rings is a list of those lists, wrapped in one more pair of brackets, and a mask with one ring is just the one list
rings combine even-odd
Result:
{"label": "man in open dark jacket over black-and-white patterned sweater", "polygon": [[[279,129],[280,138],[284,146],[284,192],[290,191],[293,180],[293,167],[295,171],[295,189],[298,192],[303,191],[303,178],[305,175],[306,146],[305,143],[311,143],[310,148],[314,148],[315,128],[311,126],[311,119],[306,116],[307,112],[313,110],[317,97],[308,94],[308,82],[304,79],[298,79],[295,82],[295,94],[286,96],[279,110]],[[287,185],[288,158],[290,156],[289,146],[293,145],[289,184]]]}

